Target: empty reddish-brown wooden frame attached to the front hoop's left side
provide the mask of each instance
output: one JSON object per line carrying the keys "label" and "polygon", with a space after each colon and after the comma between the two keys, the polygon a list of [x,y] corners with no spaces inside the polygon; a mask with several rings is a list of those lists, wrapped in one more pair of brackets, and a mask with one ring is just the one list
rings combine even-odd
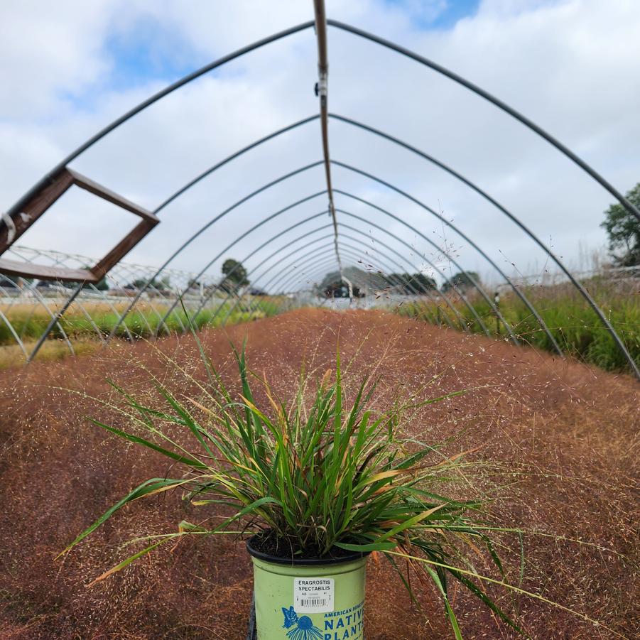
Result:
{"label": "empty reddish-brown wooden frame attached to the front hoop's left side", "polygon": [[141,222],[136,224],[136,227],[91,269],[42,266],[0,257],[0,273],[25,276],[26,278],[38,278],[40,280],[99,282],[112,266],[126,256],[160,222],[160,219],[151,211],[126,200],[121,195],[95,183],[85,175],[77,173],[77,171],[63,168],[48,185],[45,185],[40,191],[31,196],[21,212],[16,213],[11,218],[6,215],[2,218],[5,224],[0,227],[0,256],[73,185],[121,207],[121,209],[130,211],[139,216]]}

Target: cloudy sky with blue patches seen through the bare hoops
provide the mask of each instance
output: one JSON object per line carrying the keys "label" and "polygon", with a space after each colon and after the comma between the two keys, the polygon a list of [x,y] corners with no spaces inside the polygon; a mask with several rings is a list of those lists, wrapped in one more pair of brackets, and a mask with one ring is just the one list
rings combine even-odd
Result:
{"label": "cloudy sky with blue patches seen through the bare hoops", "polygon": [[[620,191],[640,181],[640,2],[327,0],[327,15],[394,40],[484,87],[570,146]],[[311,0],[3,3],[0,208],[9,208],[67,153],[153,92],[311,18]],[[331,112],[382,129],[452,166],[574,269],[588,266],[585,256],[604,247],[599,224],[612,196],[514,119],[432,70],[335,28],[329,57]],[[153,210],[254,139],[317,114],[316,64],[313,30],[288,36],[154,104],[72,167]],[[383,178],[440,212],[507,273],[554,270],[513,222],[409,151],[336,120],[330,122],[330,148],[335,160]],[[162,264],[212,217],[269,181],[319,161],[321,153],[317,120],[264,143],[163,209],[161,224],[126,260]],[[338,215],[342,242],[354,247],[345,248],[345,264],[364,260],[398,270],[391,256],[408,271],[429,271],[432,263],[446,276],[457,270],[453,258],[496,278],[468,242],[425,209],[347,168],[334,166],[332,172],[335,188],[392,212],[448,254],[401,222],[338,194],[337,207],[364,218]],[[274,235],[326,210],[326,195],[319,195],[225,251],[262,218],[324,188],[317,166],[265,190],[203,233],[171,266],[200,271],[222,252],[208,269],[219,273],[225,257],[244,260]],[[20,244],[99,257],[135,222],[71,190]],[[319,229],[329,222],[322,215],[299,224],[246,260],[250,268],[264,263],[254,279],[275,263],[269,256],[276,249],[283,255],[296,247],[262,283],[281,267],[291,276],[283,283],[320,277],[325,257],[331,266],[330,251],[324,251],[330,229]]]}

